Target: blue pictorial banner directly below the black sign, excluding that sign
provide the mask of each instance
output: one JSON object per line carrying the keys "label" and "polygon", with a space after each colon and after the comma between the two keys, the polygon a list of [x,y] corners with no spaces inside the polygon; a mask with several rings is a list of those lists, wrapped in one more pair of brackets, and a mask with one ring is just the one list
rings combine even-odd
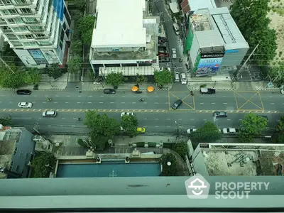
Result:
{"label": "blue pictorial banner directly below the black sign, excluding that sign", "polygon": [[200,58],[198,63],[196,76],[216,75],[221,66],[223,57],[221,58]]}

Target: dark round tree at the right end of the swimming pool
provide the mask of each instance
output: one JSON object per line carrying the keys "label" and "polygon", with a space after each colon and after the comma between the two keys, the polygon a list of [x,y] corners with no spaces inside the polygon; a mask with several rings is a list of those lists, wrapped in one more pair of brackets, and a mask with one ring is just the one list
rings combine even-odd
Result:
{"label": "dark round tree at the right end of the swimming pool", "polygon": [[[170,162],[170,165],[168,163]],[[177,176],[178,169],[177,169],[177,159],[175,155],[172,153],[163,154],[160,157],[160,163],[162,164],[162,173],[161,176]]]}

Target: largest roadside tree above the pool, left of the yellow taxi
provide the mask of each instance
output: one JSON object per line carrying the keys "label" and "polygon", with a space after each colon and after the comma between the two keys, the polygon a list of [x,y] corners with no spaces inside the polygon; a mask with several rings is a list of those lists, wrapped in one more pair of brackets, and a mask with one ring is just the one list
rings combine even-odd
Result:
{"label": "largest roadside tree above the pool, left of the yellow taxi", "polygon": [[103,151],[107,141],[120,131],[119,122],[94,110],[86,111],[84,124],[90,130],[91,143],[97,151]]}

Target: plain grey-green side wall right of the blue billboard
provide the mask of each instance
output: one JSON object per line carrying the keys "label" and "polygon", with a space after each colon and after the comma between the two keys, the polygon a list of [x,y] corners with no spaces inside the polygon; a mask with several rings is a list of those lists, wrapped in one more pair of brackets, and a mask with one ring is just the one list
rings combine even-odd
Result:
{"label": "plain grey-green side wall right of the blue billboard", "polygon": [[249,48],[239,48],[235,50],[225,50],[225,55],[222,60],[222,67],[224,66],[238,66],[241,64],[244,56]]}

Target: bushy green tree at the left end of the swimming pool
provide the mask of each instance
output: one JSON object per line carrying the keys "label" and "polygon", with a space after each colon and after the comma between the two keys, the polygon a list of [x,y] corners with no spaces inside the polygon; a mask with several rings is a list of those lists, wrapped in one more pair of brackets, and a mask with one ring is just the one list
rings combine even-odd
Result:
{"label": "bushy green tree at the left end of the swimming pool", "polygon": [[37,153],[31,164],[33,168],[31,178],[48,178],[50,172],[54,170],[55,160],[53,153]]}

